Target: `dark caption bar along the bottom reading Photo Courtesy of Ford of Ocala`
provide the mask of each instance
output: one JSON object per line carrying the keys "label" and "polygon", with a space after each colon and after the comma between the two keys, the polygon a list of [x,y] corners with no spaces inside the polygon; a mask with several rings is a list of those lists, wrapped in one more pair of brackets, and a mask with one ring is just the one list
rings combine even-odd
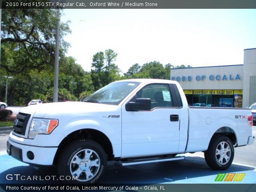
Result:
{"label": "dark caption bar along the bottom reading Photo Courtesy of Ford of Ocala", "polygon": [[0,184],[1,192],[254,192],[256,184]]}

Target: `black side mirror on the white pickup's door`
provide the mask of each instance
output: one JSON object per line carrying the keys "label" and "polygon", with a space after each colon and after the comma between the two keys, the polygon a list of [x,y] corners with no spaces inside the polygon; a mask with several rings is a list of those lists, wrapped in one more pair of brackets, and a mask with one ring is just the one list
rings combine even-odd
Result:
{"label": "black side mirror on the white pickup's door", "polygon": [[138,98],[135,102],[128,102],[125,105],[126,111],[139,111],[151,109],[151,99],[150,98]]}

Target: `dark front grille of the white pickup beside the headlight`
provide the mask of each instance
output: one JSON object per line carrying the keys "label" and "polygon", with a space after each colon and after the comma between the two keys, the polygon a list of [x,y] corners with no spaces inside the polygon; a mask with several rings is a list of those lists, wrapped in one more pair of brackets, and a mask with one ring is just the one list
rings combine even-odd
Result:
{"label": "dark front grille of the white pickup beside the headlight", "polygon": [[13,131],[17,134],[25,135],[30,116],[30,114],[19,113],[14,121]]}

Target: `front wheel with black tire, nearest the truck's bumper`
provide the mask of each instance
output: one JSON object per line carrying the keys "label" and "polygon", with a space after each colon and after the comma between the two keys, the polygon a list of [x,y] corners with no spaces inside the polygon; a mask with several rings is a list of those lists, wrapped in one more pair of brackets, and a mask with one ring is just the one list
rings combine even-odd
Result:
{"label": "front wheel with black tire, nearest the truck's bumper", "polygon": [[[75,140],[62,150],[58,157],[58,175],[77,177],[68,183],[95,183],[102,176],[107,165],[106,152],[95,141]],[[67,177],[69,178],[69,177]]]}

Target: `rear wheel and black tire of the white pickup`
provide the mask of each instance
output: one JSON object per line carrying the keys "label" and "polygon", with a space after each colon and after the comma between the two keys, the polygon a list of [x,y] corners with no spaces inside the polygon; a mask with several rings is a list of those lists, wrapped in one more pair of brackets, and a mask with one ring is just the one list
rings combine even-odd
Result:
{"label": "rear wheel and black tire of the white pickup", "polygon": [[204,152],[204,159],[215,170],[229,168],[234,159],[234,146],[230,138],[223,135],[213,136],[208,150]]}

